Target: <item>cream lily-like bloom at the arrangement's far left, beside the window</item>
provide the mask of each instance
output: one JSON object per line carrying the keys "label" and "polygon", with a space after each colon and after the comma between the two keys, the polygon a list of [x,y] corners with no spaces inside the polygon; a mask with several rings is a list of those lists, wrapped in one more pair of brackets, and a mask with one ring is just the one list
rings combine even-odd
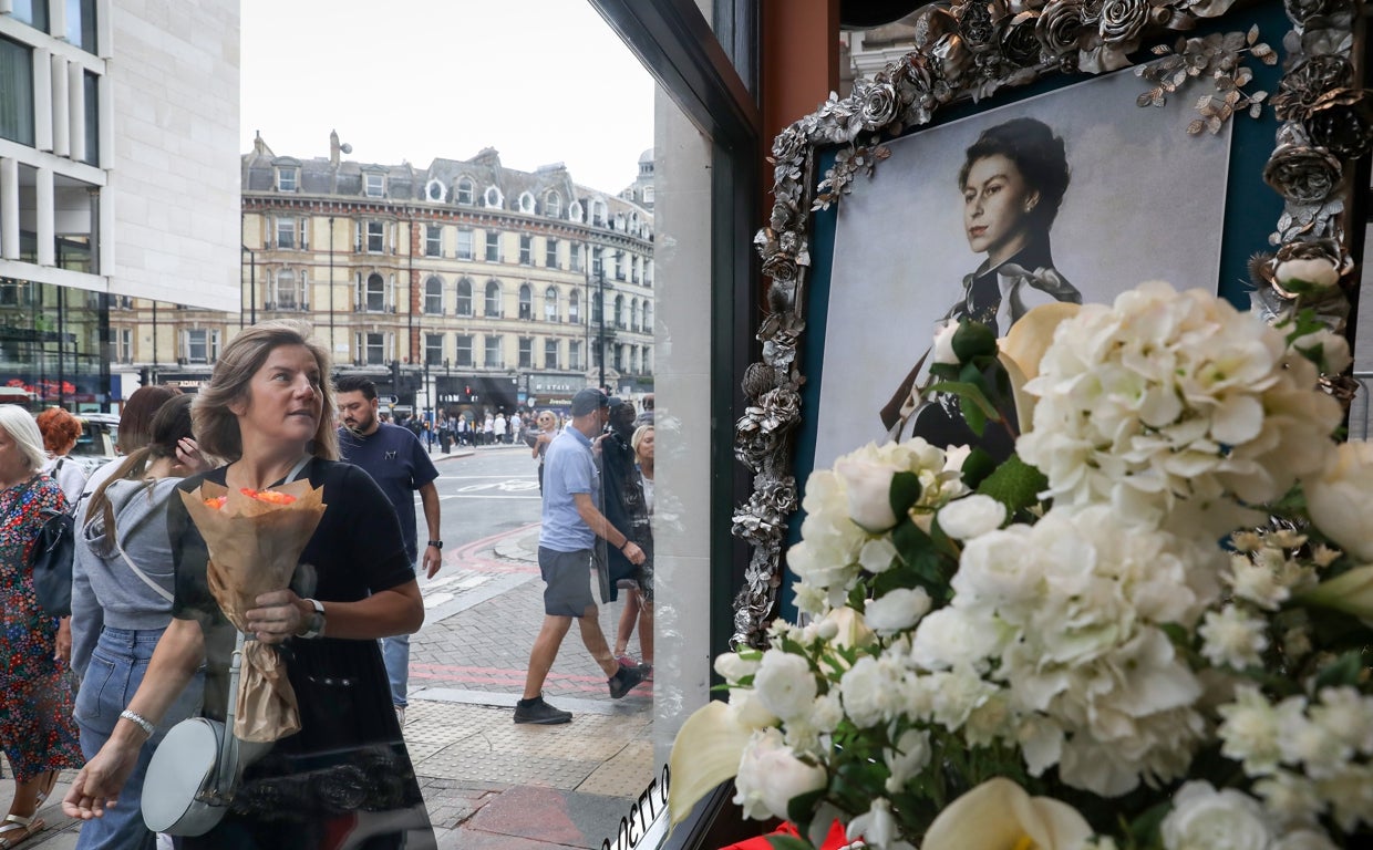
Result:
{"label": "cream lily-like bloom at the arrangement's far left, beside the window", "polygon": [[739,773],[739,759],[751,729],[740,725],[729,706],[710,702],[692,713],[673,740],[667,758],[673,784],[667,812],[673,825],[682,823],[703,796]]}

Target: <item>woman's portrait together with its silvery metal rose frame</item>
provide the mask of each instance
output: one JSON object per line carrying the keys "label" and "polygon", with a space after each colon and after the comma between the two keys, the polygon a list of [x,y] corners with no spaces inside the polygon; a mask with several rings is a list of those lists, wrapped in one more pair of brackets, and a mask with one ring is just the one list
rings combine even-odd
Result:
{"label": "woman's portrait together with its silvery metal rose frame", "polygon": [[[1282,264],[1352,273],[1373,147],[1363,8],[931,3],[914,49],[777,136],[754,239],[761,360],[736,428],[754,472],[733,526],[752,552],[736,643],[761,645],[787,614],[811,470],[868,442],[972,442],[951,397],[919,391],[946,323],[1004,335],[1037,305],[1149,280],[1277,321],[1295,299]],[[1340,295],[1319,320],[1352,338],[1348,308]]]}

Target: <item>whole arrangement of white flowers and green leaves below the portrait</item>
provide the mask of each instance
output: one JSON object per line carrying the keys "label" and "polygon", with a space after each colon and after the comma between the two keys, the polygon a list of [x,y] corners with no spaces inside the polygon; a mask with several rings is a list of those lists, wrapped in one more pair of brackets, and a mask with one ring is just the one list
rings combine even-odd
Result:
{"label": "whole arrangement of white flowers and green leaves below the portrait", "polygon": [[1373,446],[1335,439],[1348,349],[1314,327],[1146,283],[943,331],[925,391],[978,433],[1013,408],[1016,453],[912,438],[810,476],[805,625],[715,661],[673,818],[733,777],[811,843],[1373,838]]}

